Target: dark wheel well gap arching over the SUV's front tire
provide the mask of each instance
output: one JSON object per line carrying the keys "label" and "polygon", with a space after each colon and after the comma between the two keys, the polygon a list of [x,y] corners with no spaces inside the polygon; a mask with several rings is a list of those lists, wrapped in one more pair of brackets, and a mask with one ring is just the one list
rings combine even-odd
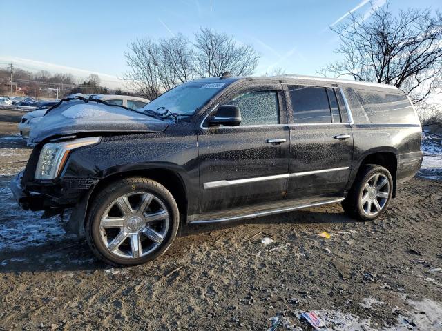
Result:
{"label": "dark wheel well gap arching over the SUV's front tire", "polygon": [[119,179],[125,177],[146,177],[148,179],[152,179],[153,181],[157,181],[161,185],[163,185],[171,194],[173,198],[177,202],[178,210],[180,210],[181,215],[186,215],[187,212],[187,197],[186,197],[186,189],[184,183],[179,174],[173,172],[171,170],[166,169],[148,169],[148,170],[137,170],[137,171],[128,171],[128,172],[119,172],[117,174],[111,174],[110,176],[102,179],[95,185],[93,188],[93,192],[90,195],[89,201],[92,201],[97,195],[97,193],[104,188],[104,186],[112,183],[113,181],[117,181]]}

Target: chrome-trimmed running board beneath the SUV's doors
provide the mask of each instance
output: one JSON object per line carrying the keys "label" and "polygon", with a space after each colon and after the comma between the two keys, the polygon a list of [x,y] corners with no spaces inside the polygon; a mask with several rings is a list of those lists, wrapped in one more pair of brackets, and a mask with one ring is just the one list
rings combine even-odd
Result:
{"label": "chrome-trimmed running board beneath the SUV's doors", "polygon": [[[318,205],[329,205],[331,203],[338,203],[343,201],[345,198],[334,198],[329,200],[318,201],[315,203],[302,203],[300,205],[294,205],[291,207],[285,208],[276,208],[273,210],[263,210],[262,212],[253,212],[251,214],[241,214],[236,216],[222,217],[218,219],[204,219],[204,215],[200,215],[202,219],[194,219],[193,221],[189,221],[189,224],[209,224],[209,223],[218,223],[218,222],[228,222],[228,221],[238,221],[240,219],[253,219],[255,217],[268,216],[273,214],[280,214],[282,212],[291,212],[293,210],[316,207]],[[196,216],[196,215],[195,215]],[[197,216],[198,217],[198,216]]]}

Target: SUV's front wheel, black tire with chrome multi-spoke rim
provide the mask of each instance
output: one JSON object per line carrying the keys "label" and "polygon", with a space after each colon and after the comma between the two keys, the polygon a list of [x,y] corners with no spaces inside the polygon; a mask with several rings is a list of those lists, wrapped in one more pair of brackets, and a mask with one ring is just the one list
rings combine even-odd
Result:
{"label": "SUV's front wheel, black tire with chrome multi-spoke rim", "polygon": [[140,265],[166,252],[179,223],[177,203],[163,185],[128,177],[95,196],[86,219],[86,239],[109,265]]}

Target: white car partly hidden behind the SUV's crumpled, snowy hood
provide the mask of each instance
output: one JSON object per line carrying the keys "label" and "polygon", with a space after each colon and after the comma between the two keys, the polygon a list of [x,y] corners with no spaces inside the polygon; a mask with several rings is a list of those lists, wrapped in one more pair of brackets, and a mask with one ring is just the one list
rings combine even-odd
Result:
{"label": "white car partly hidden behind the SUV's crumpled, snowy hood", "polygon": [[[84,94],[81,95],[84,96]],[[113,103],[118,106],[124,106],[127,108],[131,108],[133,110],[143,108],[149,102],[151,102],[148,99],[140,97],[131,97],[128,95],[90,94],[89,96],[93,97],[93,99],[103,100],[108,103]],[[33,112],[28,112],[27,114],[23,115],[23,117],[21,117],[21,121],[19,123],[19,131],[23,139],[27,140],[29,138],[30,130],[32,130],[32,127],[34,127],[35,124],[37,124],[44,117],[47,111],[48,109],[34,110]]]}

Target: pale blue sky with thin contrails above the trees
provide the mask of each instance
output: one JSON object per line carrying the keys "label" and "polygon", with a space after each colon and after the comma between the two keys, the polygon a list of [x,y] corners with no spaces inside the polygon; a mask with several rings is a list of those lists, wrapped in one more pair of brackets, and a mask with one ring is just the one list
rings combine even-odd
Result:
{"label": "pale blue sky with thin contrails above the trees", "polygon": [[[383,6],[385,0],[373,0]],[[440,0],[391,0],[392,10],[441,9]],[[282,68],[317,75],[338,59],[332,26],[348,13],[370,14],[369,0],[0,1],[0,67],[99,74],[102,85],[124,87],[124,50],[137,38],[190,38],[200,27],[231,35],[260,53],[255,74]]]}

